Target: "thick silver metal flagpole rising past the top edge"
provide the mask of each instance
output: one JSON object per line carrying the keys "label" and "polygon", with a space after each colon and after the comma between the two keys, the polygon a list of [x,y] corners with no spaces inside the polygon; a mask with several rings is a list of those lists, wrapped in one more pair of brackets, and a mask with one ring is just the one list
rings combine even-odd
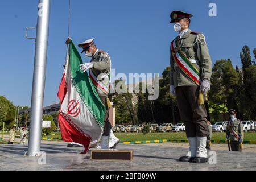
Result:
{"label": "thick silver metal flagpole rising past the top edge", "polygon": [[50,9],[51,0],[39,0],[28,156],[40,155]]}

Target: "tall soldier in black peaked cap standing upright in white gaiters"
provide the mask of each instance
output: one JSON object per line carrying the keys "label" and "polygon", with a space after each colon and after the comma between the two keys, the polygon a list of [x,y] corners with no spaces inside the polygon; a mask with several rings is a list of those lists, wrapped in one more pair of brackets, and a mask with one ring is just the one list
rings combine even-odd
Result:
{"label": "tall soldier in black peaked cap standing upright in white gaiters", "polygon": [[212,61],[205,36],[189,30],[191,17],[182,11],[171,13],[171,23],[175,23],[174,29],[179,35],[171,43],[170,90],[177,98],[190,146],[180,161],[205,163],[209,129],[207,111],[204,104],[200,104],[199,96],[210,90]]}

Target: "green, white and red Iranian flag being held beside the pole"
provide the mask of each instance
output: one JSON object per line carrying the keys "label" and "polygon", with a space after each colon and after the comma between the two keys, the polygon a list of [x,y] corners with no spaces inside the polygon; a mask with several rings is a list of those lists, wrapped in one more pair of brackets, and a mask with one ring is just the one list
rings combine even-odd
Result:
{"label": "green, white and red Iranian flag being held beside the pole", "polygon": [[84,154],[97,146],[103,133],[105,107],[87,73],[81,71],[82,59],[71,41],[59,93],[59,123],[65,142],[84,146]]}

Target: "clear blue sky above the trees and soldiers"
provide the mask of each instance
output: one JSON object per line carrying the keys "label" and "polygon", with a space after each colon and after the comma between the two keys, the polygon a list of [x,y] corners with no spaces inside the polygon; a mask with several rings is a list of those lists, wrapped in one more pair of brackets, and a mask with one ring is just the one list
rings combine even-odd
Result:
{"label": "clear blue sky above the trees and soldiers", "polygon": [[[212,2],[217,5],[217,17],[208,15]],[[1,1],[0,95],[15,105],[31,104],[35,42],[25,38],[25,31],[36,25],[37,6],[36,0]],[[230,58],[234,67],[241,67],[242,46],[248,45],[251,51],[256,47],[253,0],[72,0],[71,9],[73,41],[96,38],[97,46],[110,54],[116,73],[163,72],[169,65],[170,42],[177,35],[170,24],[172,10],[193,14],[191,30],[206,36],[213,63]],[[35,31],[30,35],[35,36]],[[67,36],[68,0],[52,0],[45,106],[58,101]]]}

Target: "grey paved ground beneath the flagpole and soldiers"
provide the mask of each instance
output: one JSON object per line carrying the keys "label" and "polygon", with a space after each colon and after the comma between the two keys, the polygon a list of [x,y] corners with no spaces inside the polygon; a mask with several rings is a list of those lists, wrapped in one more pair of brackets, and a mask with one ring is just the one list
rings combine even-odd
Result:
{"label": "grey paved ground beneath the flagpole and soldiers", "polygon": [[[80,155],[81,148],[68,148],[65,142],[42,142],[46,152],[46,165],[42,158],[23,156],[27,146],[19,144],[0,146],[2,170],[256,170],[256,152],[229,152],[216,150],[216,164],[178,162],[187,152],[187,144],[120,144],[119,149],[133,149],[133,161],[90,160],[90,155]],[[251,145],[248,145],[251,146]],[[247,146],[246,146],[247,147]],[[255,147],[255,146],[254,146]],[[222,149],[224,149],[223,147]],[[212,155],[211,155],[212,156]],[[39,161],[39,162],[38,162]],[[214,160],[211,160],[214,162]]]}

